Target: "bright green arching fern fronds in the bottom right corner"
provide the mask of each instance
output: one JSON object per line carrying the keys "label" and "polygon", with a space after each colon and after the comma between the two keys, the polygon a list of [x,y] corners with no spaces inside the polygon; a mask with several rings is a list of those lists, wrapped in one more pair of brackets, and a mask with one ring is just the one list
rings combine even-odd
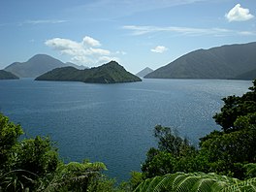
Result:
{"label": "bright green arching fern fronds in the bottom right corner", "polygon": [[239,180],[228,176],[219,176],[214,173],[176,173],[165,176],[147,178],[135,192],[218,192],[218,191],[256,191],[256,177]]}

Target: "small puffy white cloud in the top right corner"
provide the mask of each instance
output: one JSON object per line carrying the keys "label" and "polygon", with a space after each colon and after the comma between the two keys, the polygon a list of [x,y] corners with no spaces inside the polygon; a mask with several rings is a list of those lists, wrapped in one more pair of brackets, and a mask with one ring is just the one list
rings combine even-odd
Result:
{"label": "small puffy white cloud in the top right corner", "polygon": [[240,4],[237,4],[225,16],[230,22],[245,21],[245,20],[249,20],[254,17],[253,15],[250,14],[248,9],[244,9],[244,8],[240,7]]}

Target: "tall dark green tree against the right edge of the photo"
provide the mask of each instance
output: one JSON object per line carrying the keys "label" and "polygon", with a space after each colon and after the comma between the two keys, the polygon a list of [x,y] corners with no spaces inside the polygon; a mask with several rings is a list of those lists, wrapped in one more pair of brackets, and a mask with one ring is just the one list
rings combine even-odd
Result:
{"label": "tall dark green tree against the right edge of the photo", "polygon": [[256,163],[256,80],[253,85],[240,97],[224,98],[221,112],[214,115],[222,130],[200,139],[199,156],[209,172],[244,178],[244,165]]}

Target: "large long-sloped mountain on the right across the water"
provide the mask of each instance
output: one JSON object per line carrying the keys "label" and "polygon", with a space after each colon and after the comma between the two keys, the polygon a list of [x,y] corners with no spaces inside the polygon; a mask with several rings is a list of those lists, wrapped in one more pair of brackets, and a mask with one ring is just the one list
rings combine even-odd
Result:
{"label": "large long-sloped mountain on the right across the water", "polygon": [[[148,79],[240,79],[256,70],[256,42],[189,52],[148,74]],[[243,76],[241,76],[243,74]],[[254,72],[255,77],[255,72]],[[253,77],[251,77],[253,78]],[[251,79],[250,80],[253,80]]]}

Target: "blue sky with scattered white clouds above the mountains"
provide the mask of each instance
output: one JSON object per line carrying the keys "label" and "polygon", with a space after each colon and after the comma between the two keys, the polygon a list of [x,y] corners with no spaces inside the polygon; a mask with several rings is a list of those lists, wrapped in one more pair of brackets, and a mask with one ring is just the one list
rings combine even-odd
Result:
{"label": "blue sky with scattered white clouds above the mountains", "polygon": [[115,60],[136,74],[249,42],[256,0],[0,0],[0,69],[44,53],[87,67]]}

